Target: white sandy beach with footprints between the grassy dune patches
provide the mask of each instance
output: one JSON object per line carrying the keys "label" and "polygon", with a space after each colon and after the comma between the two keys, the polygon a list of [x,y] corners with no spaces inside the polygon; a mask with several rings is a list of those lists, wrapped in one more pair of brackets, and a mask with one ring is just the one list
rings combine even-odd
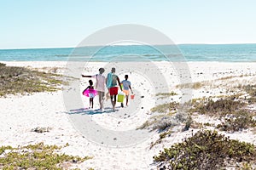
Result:
{"label": "white sandy beach with footprints between the grassy dune patches", "polygon": [[[2,62],[7,65],[38,68],[39,71],[55,71],[61,74],[67,69],[67,63],[61,61]],[[73,156],[93,156],[93,159],[75,165],[75,167],[81,169],[89,167],[122,170],[156,169],[153,164],[153,156],[157,155],[164,147],[189,136],[191,129],[180,132],[180,127],[177,127],[176,133],[172,133],[170,137],[167,137],[161,144],[155,145],[152,149],[149,149],[150,144],[159,138],[159,133],[156,131],[150,133],[149,137],[136,144],[120,144],[119,141],[124,139],[119,139],[118,137],[117,139],[109,139],[106,143],[104,143],[103,139],[101,143],[98,140],[92,141],[93,138],[84,135],[83,132],[78,130],[78,127],[73,126],[77,122],[73,122],[74,119],[70,113],[77,110],[77,118],[81,118],[81,120],[83,116],[90,116],[90,120],[111,132],[129,131],[135,130],[143,122],[146,122],[152,116],[150,109],[155,105],[171,101],[183,102],[183,99],[185,101],[190,98],[197,99],[236,94],[237,92],[230,90],[232,87],[237,87],[239,84],[255,84],[256,82],[256,63],[188,62],[187,64],[188,67],[185,69],[188,70],[184,70],[183,67],[179,67],[176,64],[154,62],[154,65],[159,68],[158,76],[164,77],[167,84],[161,84],[157,79],[154,79],[155,82],[150,82],[148,77],[143,77],[142,73],[132,72],[132,68],[131,72],[117,69],[117,74],[121,80],[123,80],[125,74],[129,74],[129,80],[132,83],[131,87],[135,89],[136,96],[134,100],[130,99],[131,105],[124,109],[120,108],[118,104],[119,111],[114,113],[110,111],[111,109],[108,109],[110,108],[109,99],[106,99],[104,103],[106,112],[96,113],[86,109],[81,110],[88,108],[89,105],[89,99],[81,95],[83,88],[88,86],[89,78],[79,77],[81,88],[78,92],[80,94],[78,99],[82,101],[83,106],[82,108],[73,108],[73,111],[70,111],[70,107],[67,107],[68,99],[65,95],[63,97],[62,91],[23,96],[9,95],[7,98],[0,98],[0,144],[18,146],[39,142],[57,145],[68,143],[69,146],[63,148],[62,152]],[[101,66],[105,65],[106,63],[90,63],[86,69],[80,68],[81,74],[94,75],[98,73],[98,69]],[[110,71],[109,68],[106,69],[104,74],[107,75],[108,71]],[[150,69],[150,67],[144,68],[144,71],[154,75],[154,70]],[[181,91],[176,87],[181,82],[201,82],[203,85],[193,90]],[[178,95],[166,99],[158,99],[154,90],[152,90],[154,84],[159,84],[160,88],[167,85],[170,91],[174,91]],[[183,96],[186,97],[183,98]],[[99,108],[97,97],[94,102],[96,110]],[[251,109],[256,110],[256,105],[251,105]],[[218,121],[204,116],[195,117],[195,120],[197,122]],[[52,129],[48,133],[35,133],[31,131],[35,127],[51,127]],[[194,131],[196,130],[198,129],[194,129]],[[226,135],[229,135],[231,139],[239,139],[256,144],[256,133],[250,130],[240,133],[227,133]],[[101,139],[101,136],[98,136],[97,139]],[[132,139],[130,140],[132,141]],[[110,144],[112,141],[113,145]]]}

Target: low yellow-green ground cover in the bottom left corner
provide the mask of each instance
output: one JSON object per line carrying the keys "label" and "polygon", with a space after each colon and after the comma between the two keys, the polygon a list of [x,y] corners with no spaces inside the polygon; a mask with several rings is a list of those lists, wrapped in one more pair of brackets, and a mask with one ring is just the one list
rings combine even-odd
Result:
{"label": "low yellow-green ground cover in the bottom left corner", "polygon": [[[66,144],[64,147],[68,146]],[[0,147],[0,168],[1,169],[67,169],[91,159],[90,156],[68,156],[58,154],[62,147],[47,145],[44,143],[29,144],[13,148],[11,146]],[[77,168],[78,169],[78,168]]]}

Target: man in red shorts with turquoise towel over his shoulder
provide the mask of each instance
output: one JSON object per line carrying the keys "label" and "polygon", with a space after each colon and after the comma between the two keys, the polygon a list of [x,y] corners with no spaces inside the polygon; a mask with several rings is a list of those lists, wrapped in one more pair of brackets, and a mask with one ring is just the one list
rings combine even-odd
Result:
{"label": "man in red shorts with turquoise towel over his shoulder", "polygon": [[115,74],[115,68],[112,68],[111,72],[108,73],[108,77],[106,79],[106,84],[108,87],[111,104],[113,106],[113,111],[115,111],[116,95],[118,94],[118,90],[119,90],[119,88],[117,87],[117,82],[119,83],[119,87],[120,87],[121,91],[123,91],[123,89],[121,87],[121,83],[119,81],[119,77]]}

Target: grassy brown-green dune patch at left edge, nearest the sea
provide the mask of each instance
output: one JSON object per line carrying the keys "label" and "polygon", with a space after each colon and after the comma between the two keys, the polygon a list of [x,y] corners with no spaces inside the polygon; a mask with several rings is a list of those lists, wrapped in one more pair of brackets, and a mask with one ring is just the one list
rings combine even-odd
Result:
{"label": "grassy brown-green dune patch at left edge, nearest the sea", "polygon": [[8,94],[54,92],[61,89],[62,76],[0,63],[0,97]]}

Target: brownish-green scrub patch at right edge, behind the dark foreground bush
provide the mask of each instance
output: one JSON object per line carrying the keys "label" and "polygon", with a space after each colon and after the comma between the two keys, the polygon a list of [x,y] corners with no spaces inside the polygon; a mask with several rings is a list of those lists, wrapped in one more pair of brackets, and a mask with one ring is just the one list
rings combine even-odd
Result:
{"label": "brownish-green scrub patch at right edge, behind the dark foreground bush", "polygon": [[[236,99],[236,100],[235,100]],[[249,99],[237,99],[228,96],[225,99],[201,99],[193,103],[190,114],[202,114],[222,120],[216,128],[221,131],[237,132],[256,127],[256,111],[247,108]],[[253,98],[254,99],[254,98]]]}

